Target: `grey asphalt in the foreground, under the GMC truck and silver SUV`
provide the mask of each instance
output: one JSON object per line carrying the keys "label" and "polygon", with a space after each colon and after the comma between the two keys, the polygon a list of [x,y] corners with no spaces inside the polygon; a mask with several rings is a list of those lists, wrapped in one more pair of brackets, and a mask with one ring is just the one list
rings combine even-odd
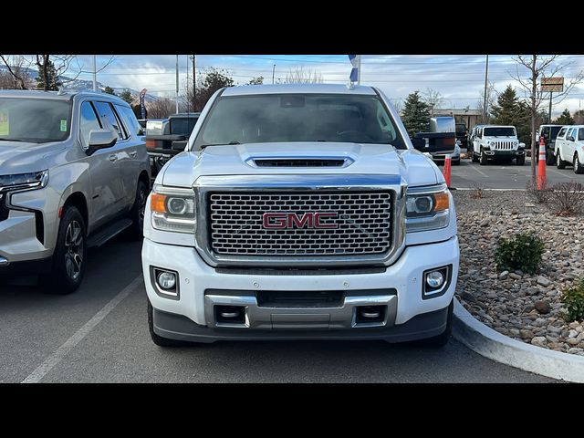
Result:
{"label": "grey asphalt in the foreground, under the GMC truck and silver SUV", "polygon": [[0,382],[551,381],[487,360],[454,339],[444,349],[382,341],[161,349],[148,333],[140,253],[141,243],[123,236],[92,251],[83,285],[69,296],[1,285]]}

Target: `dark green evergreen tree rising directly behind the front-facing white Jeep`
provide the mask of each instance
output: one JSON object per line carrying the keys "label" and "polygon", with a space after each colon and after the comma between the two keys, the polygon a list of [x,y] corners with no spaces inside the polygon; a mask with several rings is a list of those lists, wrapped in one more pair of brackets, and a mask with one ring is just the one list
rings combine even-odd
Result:
{"label": "dark green evergreen tree rising directly behind the front-facing white Jeep", "polygon": [[528,144],[531,135],[529,110],[527,105],[517,98],[513,87],[508,85],[505,91],[499,94],[491,112],[493,114],[491,123],[515,126],[519,141]]}

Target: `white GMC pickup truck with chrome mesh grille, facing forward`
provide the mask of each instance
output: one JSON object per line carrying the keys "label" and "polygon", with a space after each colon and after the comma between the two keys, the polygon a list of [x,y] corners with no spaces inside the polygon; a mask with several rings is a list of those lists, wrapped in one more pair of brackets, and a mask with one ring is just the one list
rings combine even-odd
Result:
{"label": "white GMC pickup truck with chrome mesh grille, facing forward", "polygon": [[221,89],[146,205],[159,346],[450,338],[451,193],[379,89]]}

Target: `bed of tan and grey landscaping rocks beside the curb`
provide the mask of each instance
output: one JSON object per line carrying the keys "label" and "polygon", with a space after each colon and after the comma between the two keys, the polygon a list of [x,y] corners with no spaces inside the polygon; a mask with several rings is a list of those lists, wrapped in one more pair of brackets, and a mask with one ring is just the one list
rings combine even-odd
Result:
{"label": "bed of tan and grey landscaping rocks beside the curb", "polygon": [[[510,338],[584,356],[584,322],[568,323],[561,291],[584,276],[584,217],[558,217],[527,192],[453,191],[460,273],[456,295],[475,318]],[[500,237],[535,231],[546,252],[537,274],[498,272]]]}

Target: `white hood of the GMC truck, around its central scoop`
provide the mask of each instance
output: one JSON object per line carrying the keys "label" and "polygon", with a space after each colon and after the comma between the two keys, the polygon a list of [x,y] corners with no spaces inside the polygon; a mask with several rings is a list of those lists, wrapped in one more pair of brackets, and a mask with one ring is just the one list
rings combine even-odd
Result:
{"label": "white hood of the GMC truck, around its central scoop", "polygon": [[[256,167],[256,159],[348,159],[345,167]],[[413,150],[391,145],[333,142],[248,143],[209,146],[182,152],[164,166],[162,183],[190,187],[199,176],[250,174],[387,174],[401,176],[410,186],[443,182],[432,160]],[[159,180],[160,181],[160,180]]]}

